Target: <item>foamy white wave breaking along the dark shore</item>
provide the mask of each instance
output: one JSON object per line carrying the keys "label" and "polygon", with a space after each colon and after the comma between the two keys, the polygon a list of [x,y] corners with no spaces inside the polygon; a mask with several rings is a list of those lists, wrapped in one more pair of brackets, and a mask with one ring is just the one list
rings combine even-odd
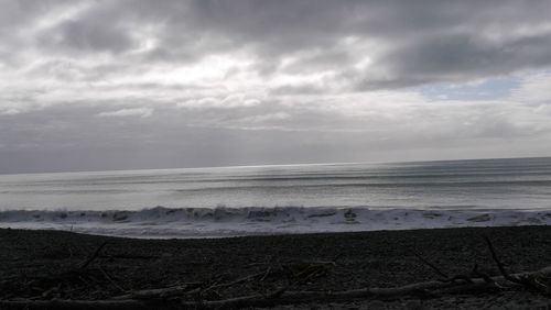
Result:
{"label": "foamy white wave breaking along the dark shore", "polygon": [[0,211],[0,228],[54,229],[138,237],[549,225],[551,211],[369,208],[164,208],[139,211]]}

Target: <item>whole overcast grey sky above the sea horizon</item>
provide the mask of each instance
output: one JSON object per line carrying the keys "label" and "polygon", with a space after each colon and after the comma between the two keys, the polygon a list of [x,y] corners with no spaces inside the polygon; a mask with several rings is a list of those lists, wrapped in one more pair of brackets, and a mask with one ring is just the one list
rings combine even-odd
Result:
{"label": "whole overcast grey sky above the sea horizon", "polygon": [[0,0],[0,173],[551,156],[549,12]]}

